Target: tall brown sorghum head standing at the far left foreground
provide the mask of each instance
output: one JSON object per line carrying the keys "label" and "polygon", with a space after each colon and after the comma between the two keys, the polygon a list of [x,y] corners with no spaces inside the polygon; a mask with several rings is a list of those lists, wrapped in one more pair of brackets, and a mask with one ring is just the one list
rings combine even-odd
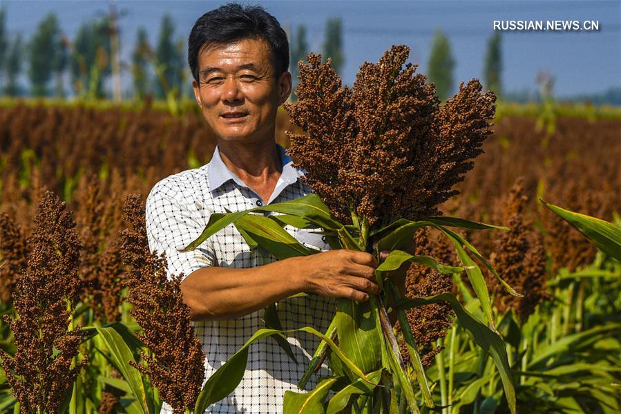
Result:
{"label": "tall brown sorghum head standing at the far left foreground", "polygon": [[79,240],[72,213],[50,191],[39,203],[29,239],[28,266],[13,294],[17,319],[5,317],[17,352],[2,366],[24,413],[55,413],[86,359],[78,355],[82,332],[70,328],[79,300]]}

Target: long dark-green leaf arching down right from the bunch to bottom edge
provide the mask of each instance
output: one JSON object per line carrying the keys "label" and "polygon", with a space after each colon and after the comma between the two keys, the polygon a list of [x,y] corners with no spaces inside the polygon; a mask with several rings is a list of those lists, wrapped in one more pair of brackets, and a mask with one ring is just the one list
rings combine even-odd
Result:
{"label": "long dark-green leaf arching down right from the bunch to bottom edge", "polygon": [[483,350],[488,352],[500,375],[502,385],[504,387],[504,393],[508,402],[511,413],[515,414],[516,400],[515,400],[515,388],[513,386],[513,376],[511,375],[511,368],[507,359],[507,352],[504,341],[500,335],[493,330],[490,330],[483,323],[478,321],[470,312],[468,312],[450,293],[438,294],[433,297],[427,297],[424,299],[401,299],[397,303],[398,308],[412,308],[414,306],[428,305],[430,303],[438,303],[440,301],[446,301],[450,303],[452,310],[457,315],[459,323],[464,327],[468,336],[475,341]]}

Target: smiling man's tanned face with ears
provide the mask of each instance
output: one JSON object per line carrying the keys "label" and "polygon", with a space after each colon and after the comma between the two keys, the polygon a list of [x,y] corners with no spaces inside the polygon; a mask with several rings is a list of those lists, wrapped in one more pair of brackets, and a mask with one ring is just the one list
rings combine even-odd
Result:
{"label": "smiling man's tanned face with ears", "polygon": [[210,45],[198,56],[196,102],[218,138],[256,142],[274,137],[276,111],[291,93],[291,74],[277,79],[269,45],[242,39]]}

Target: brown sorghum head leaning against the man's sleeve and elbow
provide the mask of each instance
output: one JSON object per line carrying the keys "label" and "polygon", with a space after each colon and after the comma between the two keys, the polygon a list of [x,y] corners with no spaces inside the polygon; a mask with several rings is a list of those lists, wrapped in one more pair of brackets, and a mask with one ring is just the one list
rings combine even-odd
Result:
{"label": "brown sorghum head leaning against the man's sleeve and elbow", "polygon": [[175,414],[185,413],[194,407],[200,393],[205,355],[194,335],[190,309],[182,300],[182,275],[169,279],[164,256],[149,251],[142,198],[128,196],[124,210],[131,226],[122,232],[123,260],[131,267],[127,300],[143,331],[137,336],[153,354],[142,354],[146,366],[133,365],[151,377]]}

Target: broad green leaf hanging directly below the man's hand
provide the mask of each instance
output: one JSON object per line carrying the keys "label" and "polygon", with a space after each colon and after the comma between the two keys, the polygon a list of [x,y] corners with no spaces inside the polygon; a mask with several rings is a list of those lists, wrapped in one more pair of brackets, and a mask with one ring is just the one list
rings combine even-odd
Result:
{"label": "broad green leaf hanging directly below the man's hand", "polygon": [[381,367],[381,343],[377,336],[375,318],[371,312],[371,297],[358,303],[353,299],[336,301],[336,332],[341,349],[351,361],[370,373]]}

